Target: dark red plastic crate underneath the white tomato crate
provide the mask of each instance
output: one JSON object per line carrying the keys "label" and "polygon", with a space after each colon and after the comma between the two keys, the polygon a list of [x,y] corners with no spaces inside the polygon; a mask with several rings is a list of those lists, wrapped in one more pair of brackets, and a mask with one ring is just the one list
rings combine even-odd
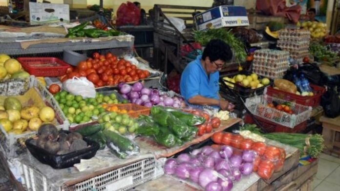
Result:
{"label": "dark red plastic crate underneath the white tomato crate", "polygon": [[[262,127],[267,130],[268,133],[301,133],[307,127],[307,121],[298,124],[294,128],[289,128],[264,119],[262,117],[255,116],[255,118],[262,125]],[[244,122],[253,124],[254,119],[249,114],[246,114],[244,116]]]}

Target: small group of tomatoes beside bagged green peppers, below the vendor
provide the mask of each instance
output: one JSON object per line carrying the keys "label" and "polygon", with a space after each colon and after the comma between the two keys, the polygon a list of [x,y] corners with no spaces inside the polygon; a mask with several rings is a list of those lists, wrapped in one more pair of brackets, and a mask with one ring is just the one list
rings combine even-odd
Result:
{"label": "small group of tomatoes beside bagged green peppers, below the vendor", "polygon": [[206,133],[211,133],[212,129],[217,129],[219,128],[219,126],[221,125],[221,119],[218,117],[212,117],[210,118],[210,115],[207,114],[204,111],[200,111],[200,110],[187,110],[185,111],[187,113],[191,113],[192,115],[197,115],[200,117],[204,117],[205,118],[205,122],[201,125],[196,125],[196,127],[198,128],[197,131],[197,136],[202,136],[203,134]]}

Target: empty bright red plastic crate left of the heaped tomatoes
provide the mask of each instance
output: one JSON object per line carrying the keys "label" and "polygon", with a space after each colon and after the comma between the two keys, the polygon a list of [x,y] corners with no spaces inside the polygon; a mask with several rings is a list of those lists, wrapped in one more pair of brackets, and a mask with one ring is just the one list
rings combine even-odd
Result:
{"label": "empty bright red plastic crate left of the heaped tomatoes", "polygon": [[[19,57],[17,60],[21,63],[23,69],[30,75],[54,77],[64,76],[69,64],[56,57]],[[59,66],[37,66],[37,64],[58,64]]]}

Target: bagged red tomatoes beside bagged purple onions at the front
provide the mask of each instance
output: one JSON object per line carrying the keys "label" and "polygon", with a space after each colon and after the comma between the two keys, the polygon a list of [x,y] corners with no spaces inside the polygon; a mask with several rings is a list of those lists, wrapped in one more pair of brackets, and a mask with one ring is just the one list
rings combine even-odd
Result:
{"label": "bagged red tomatoes beside bagged purple onions at the front", "polygon": [[229,145],[240,150],[251,150],[256,153],[254,160],[254,172],[263,178],[270,179],[274,172],[283,168],[286,152],[282,148],[266,145],[244,138],[239,134],[217,132],[212,135],[212,141],[218,145]]}

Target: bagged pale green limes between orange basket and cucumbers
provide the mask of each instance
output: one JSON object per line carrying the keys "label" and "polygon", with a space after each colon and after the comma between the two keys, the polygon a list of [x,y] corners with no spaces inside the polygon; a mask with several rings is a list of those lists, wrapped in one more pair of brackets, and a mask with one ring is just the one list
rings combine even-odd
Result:
{"label": "bagged pale green limes between orange basket and cucumbers", "polygon": [[127,114],[118,114],[116,112],[106,112],[99,115],[99,123],[104,123],[107,130],[126,134],[133,134],[138,128],[138,123]]}

